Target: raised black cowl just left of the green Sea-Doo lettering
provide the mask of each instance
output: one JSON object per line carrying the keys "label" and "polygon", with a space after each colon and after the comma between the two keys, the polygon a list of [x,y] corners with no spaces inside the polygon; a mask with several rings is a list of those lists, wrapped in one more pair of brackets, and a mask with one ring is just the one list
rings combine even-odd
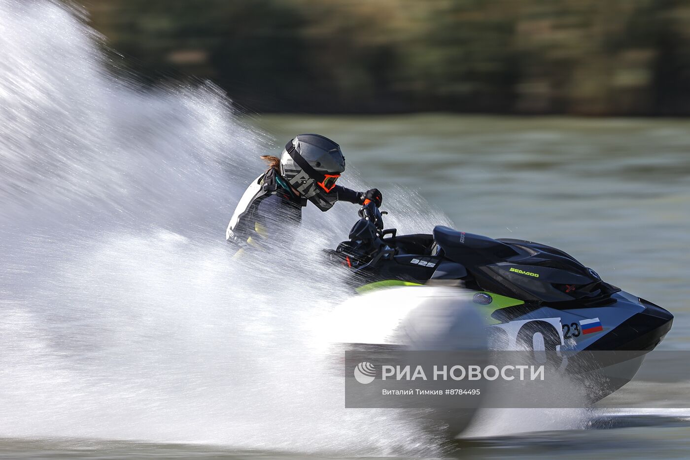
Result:
{"label": "raised black cowl just left of the green Sea-Doo lettering", "polygon": [[434,227],[433,238],[446,256],[455,262],[493,262],[517,256],[513,248],[493,238],[457,231],[441,225]]}

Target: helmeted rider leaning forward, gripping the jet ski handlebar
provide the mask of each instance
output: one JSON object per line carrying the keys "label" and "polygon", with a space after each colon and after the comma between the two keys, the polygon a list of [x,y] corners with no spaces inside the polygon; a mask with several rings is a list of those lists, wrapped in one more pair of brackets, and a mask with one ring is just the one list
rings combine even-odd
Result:
{"label": "helmeted rider leaning forward, gripping the jet ski handlebar", "polygon": [[292,242],[307,200],[322,211],[338,200],[381,205],[377,189],[357,192],[335,184],[345,171],[345,157],[338,144],[322,135],[300,134],[280,158],[264,155],[262,160],[268,170],[247,187],[226,231],[226,240],[241,249]]}

